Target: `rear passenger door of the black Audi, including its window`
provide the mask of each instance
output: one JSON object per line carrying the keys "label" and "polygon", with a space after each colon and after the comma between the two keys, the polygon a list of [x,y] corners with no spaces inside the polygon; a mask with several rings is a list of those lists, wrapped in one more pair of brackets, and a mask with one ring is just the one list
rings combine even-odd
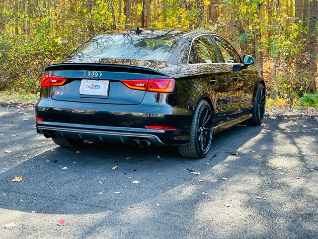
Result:
{"label": "rear passenger door of the black Audi, including its window", "polygon": [[211,34],[200,35],[193,40],[189,62],[202,72],[201,87],[215,100],[217,123],[226,122],[233,114],[233,82],[229,73],[232,68],[222,64]]}

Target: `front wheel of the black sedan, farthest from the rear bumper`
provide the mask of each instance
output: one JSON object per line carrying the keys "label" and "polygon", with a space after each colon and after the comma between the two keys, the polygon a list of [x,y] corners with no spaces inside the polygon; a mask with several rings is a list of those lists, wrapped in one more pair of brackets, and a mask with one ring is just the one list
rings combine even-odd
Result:
{"label": "front wheel of the black sedan, farthest from the rear bumper", "polygon": [[262,84],[258,84],[255,102],[252,111],[252,118],[246,121],[247,125],[257,126],[264,121],[266,107],[265,88]]}

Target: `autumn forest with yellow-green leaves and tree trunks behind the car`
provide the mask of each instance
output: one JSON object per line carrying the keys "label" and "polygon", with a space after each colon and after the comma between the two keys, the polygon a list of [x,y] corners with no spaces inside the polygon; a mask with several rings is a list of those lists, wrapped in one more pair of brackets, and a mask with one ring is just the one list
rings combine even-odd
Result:
{"label": "autumn forest with yellow-green leaves and tree trunks behind the car", "polygon": [[0,96],[36,100],[46,65],[137,26],[220,33],[255,58],[269,104],[318,107],[318,0],[0,0]]}

